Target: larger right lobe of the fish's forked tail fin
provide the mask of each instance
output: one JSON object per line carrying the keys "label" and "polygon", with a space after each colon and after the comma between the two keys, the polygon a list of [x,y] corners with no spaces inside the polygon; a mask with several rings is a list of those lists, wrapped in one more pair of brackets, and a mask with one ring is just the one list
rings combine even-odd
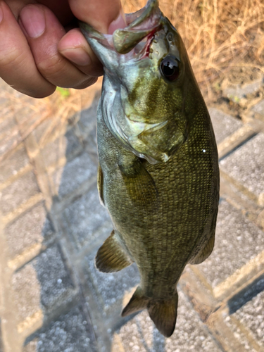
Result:
{"label": "larger right lobe of the fish's forked tail fin", "polygon": [[149,316],[159,332],[165,337],[170,337],[174,332],[177,319],[177,306],[177,292],[168,300],[153,300],[149,302]]}

